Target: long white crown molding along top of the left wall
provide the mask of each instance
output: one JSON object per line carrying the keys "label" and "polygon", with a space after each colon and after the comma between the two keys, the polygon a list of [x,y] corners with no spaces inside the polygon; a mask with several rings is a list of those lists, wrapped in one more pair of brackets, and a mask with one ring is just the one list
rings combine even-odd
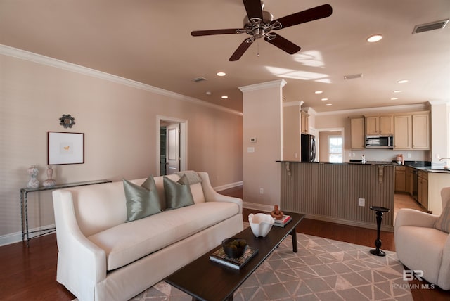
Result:
{"label": "long white crown molding along top of the left wall", "polygon": [[182,94],[178,94],[172,91],[168,91],[165,89],[160,89],[158,87],[150,86],[149,84],[143,84],[141,82],[136,82],[131,79],[127,79],[124,77],[120,77],[117,75],[111,75],[106,72],[98,71],[95,69],[87,68],[81,65],[76,65],[73,63],[65,62],[64,60],[58,60],[56,58],[50,58],[48,56],[42,56],[37,53],[32,53],[30,51],[25,51],[22,49],[13,48],[11,46],[6,46],[0,44],[0,54],[4,56],[11,56],[13,58],[19,58],[21,60],[29,60],[33,63],[38,63],[41,65],[47,65],[54,68],[59,68],[63,70],[67,70],[70,72],[77,72],[82,75],[88,75],[91,77],[96,77],[98,79],[104,79],[108,82],[114,82],[116,84],[123,84],[128,87],[133,87],[136,89],[141,89],[145,91],[149,91],[155,94],[160,94],[163,96],[168,96],[179,101],[187,101],[188,103],[195,103],[196,105],[203,105],[208,108],[213,108],[215,110],[221,110],[226,113],[236,114],[242,116],[243,113],[238,110],[233,110],[230,108],[222,107],[221,105],[215,105],[214,103],[207,103],[206,101],[200,101],[200,99],[185,96]]}

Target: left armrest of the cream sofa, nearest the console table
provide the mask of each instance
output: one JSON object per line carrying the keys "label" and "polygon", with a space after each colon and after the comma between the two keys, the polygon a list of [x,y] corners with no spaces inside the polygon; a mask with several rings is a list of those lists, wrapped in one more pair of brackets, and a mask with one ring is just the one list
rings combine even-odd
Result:
{"label": "left armrest of the cream sofa, nearest the console table", "polygon": [[92,290],[90,295],[95,284],[106,278],[105,251],[80,231],[72,193],[56,190],[52,194],[58,244],[58,281],[77,294]]}

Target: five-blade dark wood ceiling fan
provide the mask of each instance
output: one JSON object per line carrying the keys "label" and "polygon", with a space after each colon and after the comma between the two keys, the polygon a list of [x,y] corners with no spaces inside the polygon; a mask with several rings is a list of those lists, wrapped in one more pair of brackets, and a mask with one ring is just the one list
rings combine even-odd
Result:
{"label": "five-blade dark wood ceiling fan", "polygon": [[286,15],[285,17],[274,20],[274,16],[268,11],[263,11],[264,4],[260,0],[243,0],[247,16],[244,18],[243,28],[230,28],[223,30],[195,30],[191,32],[194,37],[207,36],[213,34],[249,34],[251,37],[245,39],[239,46],[229,60],[238,60],[250,45],[264,37],[265,41],[278,47],[279,49],[294,54],[300,51],[300,46],[281,37],[281,35],[271,32],[272,30],[281,30],[282,28],[307,23],[310,21],[326,18],[333,13],[330,4],[323,4],[314,8],[309,8],[306,11]]}

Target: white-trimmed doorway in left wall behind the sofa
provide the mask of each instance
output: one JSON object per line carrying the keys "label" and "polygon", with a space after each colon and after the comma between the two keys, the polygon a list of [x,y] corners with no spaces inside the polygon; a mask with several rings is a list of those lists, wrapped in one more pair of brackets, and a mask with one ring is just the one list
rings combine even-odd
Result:
{"label": "white-trimmed doorway in left wall behind the sofa", "polygon": [[186,170],[188,121],[157,116],[156,174],[164,176]]}

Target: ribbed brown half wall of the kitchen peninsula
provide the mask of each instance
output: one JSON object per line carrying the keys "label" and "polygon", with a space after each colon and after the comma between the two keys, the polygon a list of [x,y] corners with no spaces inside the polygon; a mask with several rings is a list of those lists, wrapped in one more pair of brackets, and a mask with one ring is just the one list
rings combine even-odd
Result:
{"label": "ribbed brown half wall of the kitchen peninsula", "polygon": [[[395,166],[277,161],[281,208],[338,224],[376,229],[371,206],[387,207],[381,229],[394,231]],[[364,206],[360,199],[364,198]]]}

